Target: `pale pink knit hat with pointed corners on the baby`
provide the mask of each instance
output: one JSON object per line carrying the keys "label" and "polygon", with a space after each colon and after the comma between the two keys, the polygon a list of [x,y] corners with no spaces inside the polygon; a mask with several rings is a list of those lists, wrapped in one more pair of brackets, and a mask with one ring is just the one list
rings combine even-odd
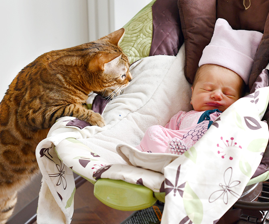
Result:
{"label": "pale pink knit hat with pointed corners on the baby", "polygon": [[248,84],[262,33],[253,30],[233,30],[225,19],[217,19],[212,39],[202,53],[199,67],[221,65],[236,72]]}

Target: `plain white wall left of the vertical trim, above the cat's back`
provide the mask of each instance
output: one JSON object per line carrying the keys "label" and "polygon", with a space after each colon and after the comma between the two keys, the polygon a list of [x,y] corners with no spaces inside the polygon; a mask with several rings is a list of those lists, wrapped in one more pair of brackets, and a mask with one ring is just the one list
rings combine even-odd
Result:
{"label": "plain white wall left of the vertical trim, above the cat's back", "polygon": [[1,0],[0,100],[42,53],[88,42],[87,18],[86,0]]}

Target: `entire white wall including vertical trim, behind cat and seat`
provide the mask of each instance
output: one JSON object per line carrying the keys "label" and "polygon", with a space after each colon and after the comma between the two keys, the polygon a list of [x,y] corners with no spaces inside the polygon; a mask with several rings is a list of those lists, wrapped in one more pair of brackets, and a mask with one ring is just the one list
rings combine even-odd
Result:
{"label": "entire white wall including vertical trim, behind cat and seat", "polygon": [[17,73],[50,50],[120,29],[151,0],[1,0],[0,100]]}

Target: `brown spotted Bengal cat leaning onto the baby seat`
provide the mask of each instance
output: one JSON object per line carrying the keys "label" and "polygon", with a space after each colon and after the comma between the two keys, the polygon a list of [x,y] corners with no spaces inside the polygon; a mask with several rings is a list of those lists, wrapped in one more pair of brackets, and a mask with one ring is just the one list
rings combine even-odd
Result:
{"label": "brown spotted Bengal cat leaning onto the baby seat", "polygon": [[118,42],[124,29],[94,42],[39,56],[10,84],[0,104],[0,224],[7,222],[17,191],[37,174],[37,144],[62,116],[105,125],[82,104],[91,91],[114,97],[129,85],[129,61]]}

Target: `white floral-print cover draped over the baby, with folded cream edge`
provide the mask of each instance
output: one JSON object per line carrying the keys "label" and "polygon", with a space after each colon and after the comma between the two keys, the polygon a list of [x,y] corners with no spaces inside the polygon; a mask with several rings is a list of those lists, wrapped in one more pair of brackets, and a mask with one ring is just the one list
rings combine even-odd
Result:
{"label": "white floral-print cover draped over the baby, with folded cream edge", "polygon": [[164,174],[162,223],[217,223],[239,199],[268,143],[262,122],[269,87],[259,88],[224,111],[203,140],[176,159],[118,145],[129,163]]}

